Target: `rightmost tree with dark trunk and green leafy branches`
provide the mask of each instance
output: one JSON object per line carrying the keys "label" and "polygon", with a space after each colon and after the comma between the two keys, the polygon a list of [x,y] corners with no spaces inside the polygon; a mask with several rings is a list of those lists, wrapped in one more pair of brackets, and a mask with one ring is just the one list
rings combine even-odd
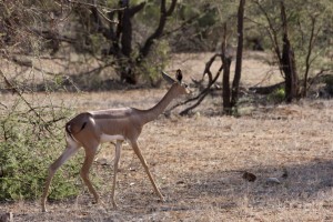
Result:
{"label": "rightmost tree with dark trunk and green leafy branches", "polygon": [[329,22],[332,20],[332,1],[280,0],[279,4],[272,0],[253,1],[250,11],[248,19],[263,30],[263,37],[268,37],[266,44],[273,49],[285,79],[285,101],[305,97],[310,75],[332,69],[327,62],[320,62],[332,50]]}

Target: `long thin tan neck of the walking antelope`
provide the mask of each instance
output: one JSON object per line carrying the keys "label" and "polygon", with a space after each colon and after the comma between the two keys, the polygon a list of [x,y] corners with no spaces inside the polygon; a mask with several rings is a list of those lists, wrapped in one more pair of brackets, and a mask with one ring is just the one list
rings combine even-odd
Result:
{"label": "long thin tan neck of the walking antelope", "polygon": [[142,121],[143,123],[148,123],[150,121],[155,120],[170,104],[170,102],[179,95],[178,88],[179,85],[176,83],[172,84],[170,90],[165,93],[165,95],[162,98],[162,100],[155,104],[153,108],[149,110],[142,111]]}

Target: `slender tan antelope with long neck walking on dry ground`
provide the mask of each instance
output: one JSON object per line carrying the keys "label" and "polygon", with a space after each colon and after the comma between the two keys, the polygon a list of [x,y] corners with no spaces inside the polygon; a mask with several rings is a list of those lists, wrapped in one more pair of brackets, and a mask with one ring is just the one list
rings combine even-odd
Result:
{"label": "slender tan antelope with long neck walking on dry ground", "polygon": [[133,148],[135,154],[140,159],[155,193],[164,201],[154,179],[152,178],[148,164],[141,154],[138,147],[138,138],[141,133],[142,127],[155,120],[161,114],[168,104],[180,94],[188,94],[190,90],[185,83],[182,82],[181,70],[176,71],[175,79],[172,79],[167,73],[162,72],[163,78],[172,83],[172,87],[162,98],[162,100],[149,110],[138,110],[134,108],[109,109],[100,111],[83,112],[74,117],[65,124],[67,147],[62,154],[50,165],[49,175],[46,181],[46,188],[41,199],[42,211],[46,212],[46,202],[49,192],[49,186],[56,171],[79,148],[83,147],[85,151],[85,159],[80,171],[80,175],[88,186],[90,193],[93,194],[94,201],[99,202],[99,195],[89,180],[89,169],[94,160],[94,155],[99,145],[103,142],[111,142],[115,140],[115,157],[113,169],[113,186],[111,193],[111,201],[113,208],[117,208],[114,200],[115,181],[118,164],[120,160],[120,152],[123,141],[128,141]]}

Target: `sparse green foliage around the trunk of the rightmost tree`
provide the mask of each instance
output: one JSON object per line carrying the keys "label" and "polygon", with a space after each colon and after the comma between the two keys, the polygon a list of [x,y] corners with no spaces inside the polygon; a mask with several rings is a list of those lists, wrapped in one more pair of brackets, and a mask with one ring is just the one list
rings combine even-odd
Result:
{"label": "sparse green foliage around the trunk of the rightmost tree", "polygon": [[[300,70],[301,77],[304,75],[306,56],[311,51],[310,63],[313,74],[315,70],[327,65],[327,62],[323,63],[320,58],[325,57],[332,50],[330,43],[332,41],[332,22],[329,21],[333,19],[333,3],[330,0],[284,2],[289,38],[296,56],[297,70]],[[248,10],[249,24],[256,24],[255,30],[260,31],[266,48],[273,48],[275,43],[281,46],[280,9],[276,1],[253,1],[250,2]],[[276,34],[276,40],[270,39],[274,38],[274,34]]]}

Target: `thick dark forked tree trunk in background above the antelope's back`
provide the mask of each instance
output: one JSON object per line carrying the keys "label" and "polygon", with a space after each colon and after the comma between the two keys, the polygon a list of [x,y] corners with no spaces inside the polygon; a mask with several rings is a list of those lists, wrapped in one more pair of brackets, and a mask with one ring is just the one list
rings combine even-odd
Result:
{"label": "thick dark forked tree trunk in background above the antelope's back", "polygon": [[97,30],[102,32],[110,41],[110,48],[108,51],[104,51],[103,54],[113,56],[115,58],[117,72],[123,82],[130,84],[138,83],[140,75],[140,72],[138,72],[140,68],[138,69],[138,67],[141,65],[143,59],[149,54],[154,41],[162,37],[168,18],[171,17],[176,6],[176,0],[161,0],[159,2],[161,11],[159,26],[144,43],[139,44],[142,47],[139,49],[140,51],[137,58],[133,58],[133,54],[137,53],[133,53],[132,49],[132,19],[145,7],[147,1],[131,6],[130,0],[119,0],[119,10],[108,12],[110,20],[114,18],[118,19],[119,23],[115,27],[113,23],[109,24],[109,27],[103,26],[99,18],[98,9],[93,8],[92,10],[92,22],[95,23]]}

